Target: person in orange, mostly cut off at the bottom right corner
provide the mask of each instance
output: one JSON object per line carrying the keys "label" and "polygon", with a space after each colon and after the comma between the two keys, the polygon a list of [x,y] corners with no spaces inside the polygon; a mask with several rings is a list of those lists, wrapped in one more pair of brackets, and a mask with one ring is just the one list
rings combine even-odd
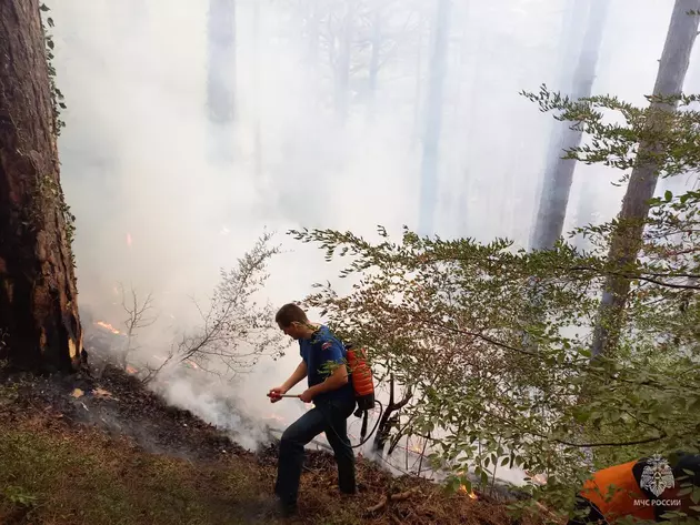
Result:
{"label": "person in orange, mostly cut off at the bottom right corner", "polygon": [[600,470],[579,494],[577,511],[584,516],[570,519],[568,525],[612,525],[624,517],[662,522],[664,513],[679,511],[700,517],[686,484],[700,487],[698,454],[677,452],[668,461],[661,456],[642,457]]}

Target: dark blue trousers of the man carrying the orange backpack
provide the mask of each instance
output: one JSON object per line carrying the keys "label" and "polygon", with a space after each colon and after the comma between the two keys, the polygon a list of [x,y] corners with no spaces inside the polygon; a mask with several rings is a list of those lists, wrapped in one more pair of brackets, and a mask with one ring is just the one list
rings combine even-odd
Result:
{"label": "dark blue trousers of the man carrying the orange backpack", "polygon": [[294,506],[303,466],[303,447],[321,432],[330,443],[338,464],[338,487],[353,494],[354,454],[348,440],[348,417],[354,411],[354,400],[321,401],[299,417],[282,434],[274,493],[286,506]]}

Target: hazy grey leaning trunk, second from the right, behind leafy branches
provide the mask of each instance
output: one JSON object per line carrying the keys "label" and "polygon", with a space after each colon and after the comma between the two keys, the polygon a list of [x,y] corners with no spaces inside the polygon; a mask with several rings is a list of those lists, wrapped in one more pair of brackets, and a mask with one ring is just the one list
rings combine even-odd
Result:
{"label": "hazy grey leaning trunk, second from the right, behind leafy branches", "polygon": [[[581,11],[580,3],[580,1],[577,2],[573,10],[574,13]],[[573,100],[591,95],[609,3],[610,0],[593,0],[590,3],[588,28],[583,37],[583,44],[579,54],[576,72],[573,73],[573,82],[570,92],[571,99]],[[577,18],[577,20],[572,20],[572,22],[578,23],[578,17],[574,18]],[[569,31],[567,31],[567,33],[569,33]],[[567,216],[573,170],[576,168],[576,161],[573,159],[563,159],[562,157],[566,154],[566,150],[577,148],[581,144],[582,135],[582,131],[571,130],[566,123],[554,125],[554,135],[551,140],[549,153],[550,159],[544,172],[540,205],[534,223],[534,231],[530,241],[532,250],[550,250],[561,236],[564,219]]]}

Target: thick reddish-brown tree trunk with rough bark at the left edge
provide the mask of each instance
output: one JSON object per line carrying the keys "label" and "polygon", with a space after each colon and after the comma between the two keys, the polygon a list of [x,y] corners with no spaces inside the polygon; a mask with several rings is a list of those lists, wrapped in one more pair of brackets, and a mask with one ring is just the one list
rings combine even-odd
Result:
{"label": "thick reddish-brown tree trunk with rough bark at the left edge", "polygon": [[70,371],[82,329],[38,0],[0,0],[0,355]]}

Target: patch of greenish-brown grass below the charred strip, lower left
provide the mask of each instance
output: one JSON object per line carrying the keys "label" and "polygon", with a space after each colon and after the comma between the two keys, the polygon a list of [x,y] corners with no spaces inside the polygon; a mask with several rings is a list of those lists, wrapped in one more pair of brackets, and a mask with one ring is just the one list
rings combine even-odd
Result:
{"label": "patch of greenish-brown grass below the charred strip, lower left", "polygon": [[254,523],[244,509],[266,479],[243,461],[194,466],[97,432],[24,426],[0,430],[1,523]]}

